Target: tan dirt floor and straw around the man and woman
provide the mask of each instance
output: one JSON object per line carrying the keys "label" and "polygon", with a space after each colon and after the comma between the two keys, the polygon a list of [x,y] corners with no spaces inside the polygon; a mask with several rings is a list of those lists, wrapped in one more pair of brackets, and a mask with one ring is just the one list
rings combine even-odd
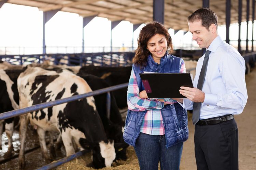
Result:
{"label": "tan dirt floor and straw around the man and woman", "polygon": [[[240,115],[235,115],[239,132],[239,169],[256,170],[256,69],[245,76],[248,92],[247,104]],[[194,152],[194,125],[189,113],[189,138],[184,142],[180,170],[196,170],[196,159]],[[127,150],[128,160],[118,161],[114,167],[103,168],[102,170],[137,170],[139,169],[138,159],[133,148]],[[87,156],[82,156],[69,163],[59,166],[58,170],[68,169],[92,169],[85,167]],[[87,160],[86,160],[87,159]],[[80,164],[81,162],[81,164]],[[159,168],[160,169],[160,168]]]}

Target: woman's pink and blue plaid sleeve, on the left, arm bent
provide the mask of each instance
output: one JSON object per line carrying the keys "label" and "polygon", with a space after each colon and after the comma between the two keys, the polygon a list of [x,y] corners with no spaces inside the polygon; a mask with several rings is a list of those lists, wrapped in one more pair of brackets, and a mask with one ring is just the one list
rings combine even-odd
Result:
{"label": "woman's pink and blue plaid sleeve, on the left, arm bent", "polygon": [[133,111],[145,111],[153,109],[163,108],[163,103],[157,100],[151,100],[147,98],[139,97],[139,87],[137,84],[137,78],[133,69],[131,70],[131,76],[129,79],[128,91],[127,91],[127,105],[128,109]]}

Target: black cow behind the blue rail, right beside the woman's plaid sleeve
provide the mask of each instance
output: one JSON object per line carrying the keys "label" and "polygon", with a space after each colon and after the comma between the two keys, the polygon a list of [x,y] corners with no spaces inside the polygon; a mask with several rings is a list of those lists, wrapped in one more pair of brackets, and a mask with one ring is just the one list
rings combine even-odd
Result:
{"label": "black cow behind the blue rail, right beside the woman's plaid sleeve", "polygon": [[[131,75],[131,66],[127,67],[100,67],[100,66],[83,66],[78,74],[91,74],[106,80],[110,86],[128,83]],[[127,107],[127,88],[115,90],[113,92],[117,106],[119,108]]]}

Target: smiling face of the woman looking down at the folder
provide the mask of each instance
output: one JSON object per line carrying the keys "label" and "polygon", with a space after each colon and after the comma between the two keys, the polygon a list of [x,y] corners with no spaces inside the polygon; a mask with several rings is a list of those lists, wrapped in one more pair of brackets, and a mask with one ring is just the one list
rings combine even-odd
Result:
{"label": "smiling face of the woman looking down at the folder", "polygon": [[147,49],[152,54],[156,63],[160,63],[160,59],[165,56],[167,51],[167,40],[164,35],[156,34],[147,42]]}

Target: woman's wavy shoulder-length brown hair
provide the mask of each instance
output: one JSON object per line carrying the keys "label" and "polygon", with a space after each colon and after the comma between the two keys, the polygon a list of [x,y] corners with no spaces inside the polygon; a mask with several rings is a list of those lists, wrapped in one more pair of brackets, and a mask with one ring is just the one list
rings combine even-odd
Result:
{"label": "woman's wavy shoulder-length brown hair", "polygon": [[156,34],[165,36],[167,40],[167,50],[169,53],[173,51],[172,38],[162,24],[156,21],[149,22],[141,30],[138,37],[138,48],[136,49],[135,56],[132,58],[132,62],[138,64],[140,67],[147,65],[147,57],[150,52],[147,50],[147,42]]}

